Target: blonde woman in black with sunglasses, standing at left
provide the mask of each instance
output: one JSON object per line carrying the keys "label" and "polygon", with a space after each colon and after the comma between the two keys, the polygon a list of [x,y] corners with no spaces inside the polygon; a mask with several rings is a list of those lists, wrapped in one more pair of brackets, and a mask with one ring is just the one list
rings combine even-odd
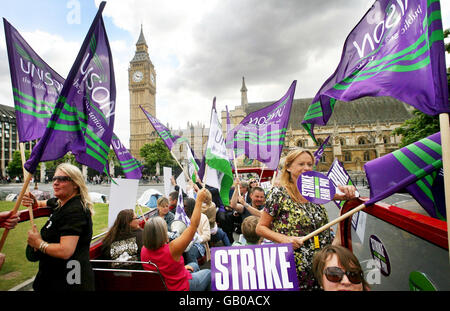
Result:
{"label": "blonde woman in black with sunglasses, standing at left", "polygon": [[22,200],[24,206],[52,209],[40,233],[36,226],[28,231],[27,258],[39,260],[33,289],[94,290],[89,262],[94,210],[80,169],[60,164],[53,177],[53,191],[55,198],[47,201],[38,201],[32,194]]}

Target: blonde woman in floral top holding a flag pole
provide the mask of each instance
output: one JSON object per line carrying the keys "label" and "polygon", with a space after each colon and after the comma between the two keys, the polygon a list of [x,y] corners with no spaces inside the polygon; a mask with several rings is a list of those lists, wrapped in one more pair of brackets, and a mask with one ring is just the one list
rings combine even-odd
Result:
{"label": "blonde woman in floral top holding a flag pole", "polygon": [[[286,156],[281,186],[267,193],[266,207],[256,228],[257,234],[275,243],[292,243],[301,290],[319,289],[312,273],[313,256],[320,248],[333,243],[330,229],[304,243],[301,239],[329,222],[326,209],[306,200],[297,188],[298,177],[311,171],[313,163],[314,156],[308,150],[296,149]],[[339,190],[343,194],[336,195],[335,200],[355,197],[353,186],[339,186]],[[338,239],[335,243],[339,243]]]}

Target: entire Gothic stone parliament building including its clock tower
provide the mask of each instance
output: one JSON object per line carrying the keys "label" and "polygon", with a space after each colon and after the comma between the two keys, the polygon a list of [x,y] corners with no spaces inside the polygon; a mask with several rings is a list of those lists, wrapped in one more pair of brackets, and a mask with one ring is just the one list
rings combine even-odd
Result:
{"label": "entire Gothic stone parliament building including its clock tower", "polygon": [[[156,114],[156,72],[150,60],[148,46],[142,28],[136,43],[136,52],[128,70],[130,91],[130,152],[140,158],[139,150],[146,143],[153,142],[158,135],[139,108],[142,105],[148,112]],[[229,112],[230,121],[237,125],[247,114],[266,107],[278,99],[267,102],[248,102],[245,79],[240,81],[241,104]],[[294,99],[283,154],[302,147],[314,152],[317,146],[303,129],[301,122],[312,98]],[[392,131],[412,117],[410,106],[391,97],[365,97],[351,102],[337,101],[334,113],[326,126],[316,126],[318,141],[329,135],[330,147],[324,151],[317,170],[327,171],[334,159],[340,160],[347,171],[362,172],[367,161],[398,149],[401,137]],[[226,128],[226,112],[221,112],[222,128]],[[209,125],[207,125],[209,126]],[[187,123],[186,129],[172,130],[173,135],[187,138],[194,153],[201,158],[206,148],[209,129],[201,123]],[[177,159],[186,161],[184,144],[172,150]],[[246,161],[247,160],[247,161]],[[257,161],[238,159],[238,167],[260,166]]]}

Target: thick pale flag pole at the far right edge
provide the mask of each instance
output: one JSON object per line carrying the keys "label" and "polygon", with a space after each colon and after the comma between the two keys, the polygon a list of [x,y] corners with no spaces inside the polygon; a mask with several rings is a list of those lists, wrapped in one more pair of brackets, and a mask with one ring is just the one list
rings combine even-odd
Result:
{"label": "thick pale flag pole at the far right edge", "polygon": [[[447,241],[450,251],[450,124],[448,113],[439,114],[441,130],[442,167],[444,170],[445,209],[447,213]],[[450,261],[450,252],[449,252]]]}

